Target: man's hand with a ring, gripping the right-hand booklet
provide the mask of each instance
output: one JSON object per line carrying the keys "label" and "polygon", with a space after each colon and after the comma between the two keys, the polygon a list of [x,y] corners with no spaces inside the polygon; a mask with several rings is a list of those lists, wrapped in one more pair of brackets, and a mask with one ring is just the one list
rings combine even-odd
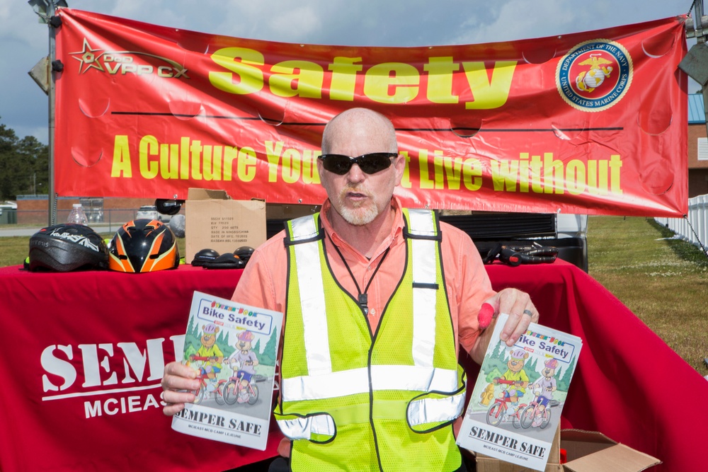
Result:
{"label": "man's hand with a ring, gripping the right-hand booklet", "polygon": [[538,311],[526,292],[518,289],[503,289],[485,303],[494,308],[494,316],[489,328],[482,331],[469,354],[474,362],[481,364],[486,348],[491,340],[491,333],[496,325],[499,313],[507,313],[509,318],[501,330],[501,340],[509,347],[513,346],[529,327],[529,323],[538,323]]}

